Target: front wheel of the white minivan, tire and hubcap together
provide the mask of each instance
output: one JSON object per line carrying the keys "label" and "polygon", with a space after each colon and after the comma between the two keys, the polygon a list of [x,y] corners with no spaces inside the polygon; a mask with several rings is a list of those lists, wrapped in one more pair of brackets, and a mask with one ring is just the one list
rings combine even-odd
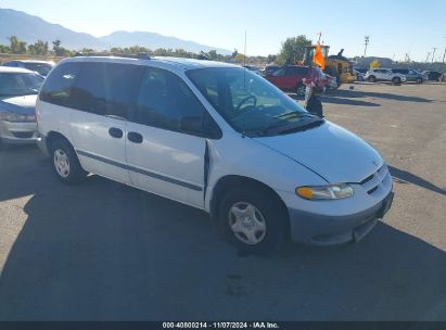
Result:
{"label": "front wheel of the white minivan, tire and hubcap together", "polygon": [[218,221],[231,243],[245,252],[273,252],[285,241],[286,212],[278,198],[263,188],[247,185],[225,193]]}

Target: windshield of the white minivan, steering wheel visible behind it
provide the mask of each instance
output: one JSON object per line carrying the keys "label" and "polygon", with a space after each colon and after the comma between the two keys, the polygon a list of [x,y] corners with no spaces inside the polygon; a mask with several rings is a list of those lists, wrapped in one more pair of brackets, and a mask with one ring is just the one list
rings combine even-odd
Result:
{"label": "windshield of the white minivan, steering wheel visible behind it", "polygon": [[187,75],[227,123],[247,136],[289,134],[323,123],[249,69],[197,68]]}

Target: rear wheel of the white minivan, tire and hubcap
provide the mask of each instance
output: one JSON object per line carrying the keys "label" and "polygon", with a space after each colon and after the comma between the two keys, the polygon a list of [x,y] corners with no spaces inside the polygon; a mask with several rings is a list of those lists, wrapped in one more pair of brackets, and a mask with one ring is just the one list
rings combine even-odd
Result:
{"label": "rear wheel of the white minivan, tire and hubcap", "polygon": [[80,166],[73,147],[59,139],[51,144],[52,167],[59,180],[66,185],[77,185],[85,180],[87,173]]}

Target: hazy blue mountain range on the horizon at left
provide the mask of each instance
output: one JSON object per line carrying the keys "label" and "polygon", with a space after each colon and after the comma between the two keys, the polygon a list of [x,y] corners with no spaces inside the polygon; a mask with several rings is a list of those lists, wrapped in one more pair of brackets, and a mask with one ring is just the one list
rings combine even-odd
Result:
{"label": "hazy blue mountain range on the horizon at left", "polygon": [[8,38],[16,36],[20,40],[28,45],[37,40],[48,41],[51,46],[53,40],[61,40],[62,47],[71,50],[80,50],[82,48],[93,49],[97,51],[110,50],[112,47],[131,47],[140,46],[155,50],[165,49],[184,49],[190,52],[199,53],[200,51],[208,52],[216,50],[220,54],[230,54],[231,51],[201,45],[199,42],[182,40],[175,37],[167,37],[150,31],[114,31],[109,36],[94,37],[85,33],[77,33],[63,27],[59,24],[49,23],[38,16],[33,16],[24,12],[12,9],[0,8],[0,45],[9,45]]}

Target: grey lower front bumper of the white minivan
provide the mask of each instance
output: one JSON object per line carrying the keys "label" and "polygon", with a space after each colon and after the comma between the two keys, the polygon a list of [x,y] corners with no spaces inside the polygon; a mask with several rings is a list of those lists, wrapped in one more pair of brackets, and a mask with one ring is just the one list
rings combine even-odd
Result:
{"label": "grey lower front bumper of the white minivan", "polygon": [[347,216],[326,216],[289,208],[292,240],[327,246],[357,242],[387,213],[393,196],[391,191],[380,203]]}

